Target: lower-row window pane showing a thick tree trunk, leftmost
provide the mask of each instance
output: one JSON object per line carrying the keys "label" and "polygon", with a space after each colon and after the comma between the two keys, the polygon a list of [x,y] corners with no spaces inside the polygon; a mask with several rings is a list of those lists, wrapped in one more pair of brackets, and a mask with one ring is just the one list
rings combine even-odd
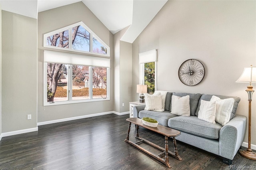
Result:
{"label": "lower-row window pane showing a thick tree trunk, leftmost", "polygon": [[47,63],[47,102],[67,101],[68,65]]}

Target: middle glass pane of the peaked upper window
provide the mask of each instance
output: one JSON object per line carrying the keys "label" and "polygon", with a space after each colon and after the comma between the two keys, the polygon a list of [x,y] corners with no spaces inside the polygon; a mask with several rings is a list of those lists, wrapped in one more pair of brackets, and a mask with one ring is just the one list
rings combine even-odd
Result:
{"label": "middle glass pane of the peaked upper window", "polygon": [[72,49],[90,51],[90,33],[83,26],[72,28]]}

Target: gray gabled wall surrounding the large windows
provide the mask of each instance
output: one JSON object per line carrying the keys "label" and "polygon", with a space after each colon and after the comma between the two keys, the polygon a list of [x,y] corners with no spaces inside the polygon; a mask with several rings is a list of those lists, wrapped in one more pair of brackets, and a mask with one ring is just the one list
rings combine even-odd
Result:
{"label": "gray gabled wall surrounding the large windows", "polygon": [[[48,32],[80,21],[84,22],[102,41],[110,46],[110,100],[44,107],[43,52],[44,49],[51,51],[61,50],[43,47],[43,36]],[[113,34],[82,2],[38,13],[38,123],[113,111],[113,44]]]}

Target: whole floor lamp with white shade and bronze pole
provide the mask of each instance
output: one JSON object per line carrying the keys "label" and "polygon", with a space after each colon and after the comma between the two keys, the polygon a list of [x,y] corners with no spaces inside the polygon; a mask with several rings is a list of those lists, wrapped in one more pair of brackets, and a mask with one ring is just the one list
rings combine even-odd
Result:
{"label": "whole floor lamp with white shade and bronze pole", "polygon": [[240,154],[245,158],[256,160],[256,153],[251,149],[251,114],[252,114],[252,93],[254,92],[252,83],[256,83],[256,67],[246,67],[244,68],[244,72],[236,81],[239,83],[250,83],[245,90],[248,93],[248,101],[249,101],[249,128],[248,128],[248,148],[246,150],[239,150]]}

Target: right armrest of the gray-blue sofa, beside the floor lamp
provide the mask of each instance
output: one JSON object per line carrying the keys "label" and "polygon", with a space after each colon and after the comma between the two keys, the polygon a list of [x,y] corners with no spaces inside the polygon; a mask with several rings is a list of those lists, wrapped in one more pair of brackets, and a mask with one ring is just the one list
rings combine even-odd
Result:
{"label": "right armrest of the gray-blue sofa, beside the floor lamp", "polygon": [[220,129],[220,156],[233,160],[236,152],[244,141],[247,118],[236,115]]}

